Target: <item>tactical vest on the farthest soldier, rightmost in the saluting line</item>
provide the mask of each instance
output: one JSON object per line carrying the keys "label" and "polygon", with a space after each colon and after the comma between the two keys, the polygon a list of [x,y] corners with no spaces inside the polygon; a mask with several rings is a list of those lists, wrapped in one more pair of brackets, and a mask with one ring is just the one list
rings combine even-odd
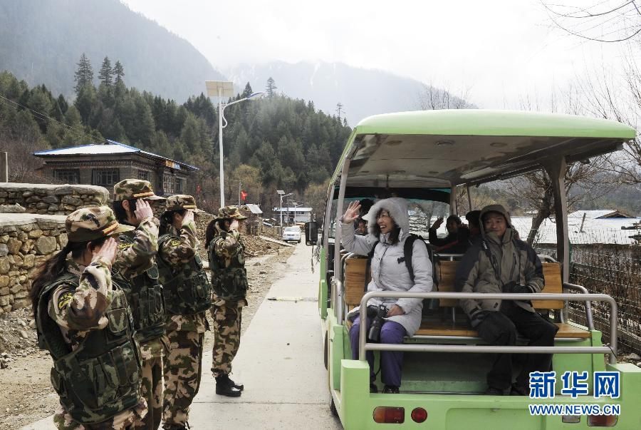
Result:
{"label": "tactical vest on the farthest soldier, rightmost in the saluting line", "polygon": [[231,257],[229,266],[225,267],[225,258],[214,252],[214,243],[209,245],[209,270],[212,271],[214,294],[223,300],[237,302],[247,295],[247,271],[245,270],[245,247],[239,242],[238,252]]}

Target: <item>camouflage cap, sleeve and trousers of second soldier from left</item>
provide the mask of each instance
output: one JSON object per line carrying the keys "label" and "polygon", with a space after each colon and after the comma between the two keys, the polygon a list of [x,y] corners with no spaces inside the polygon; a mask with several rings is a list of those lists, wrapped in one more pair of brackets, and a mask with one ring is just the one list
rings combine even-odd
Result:
{"label": "camouflage cap, sleeve and trousers of second soldier from left", "polygon": [[[146,180],[125,179],[114,185],[114,201],[142,198],[143,200],[165,200],[154,194],[151,184]],[[118,255],[114,269],[125,280],[130,281],[147,270],[155,269],[158,240],[158,220],[148,217],[120,237]],[[140,319],[139,309],[132,312]],[[140,337],[140,357],[142,358],[142,396],[147,400],[149,413],[144,422],[135,429],[155,430],[162,419],[162,360],[169,342],[163,333],[158,337],[142,342]]]}

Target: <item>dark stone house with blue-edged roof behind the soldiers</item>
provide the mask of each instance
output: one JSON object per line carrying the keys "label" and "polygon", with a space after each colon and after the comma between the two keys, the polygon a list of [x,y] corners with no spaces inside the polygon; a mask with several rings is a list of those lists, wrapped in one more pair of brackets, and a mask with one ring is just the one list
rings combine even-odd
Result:
{"label": "dark stone house with blue-edged roof behind the soldiers", "polygon": [[44,160],[43,176],[62,183],[100,185],[110,191],[120,180],[135,178],[150,181],[158,195],[189,194],[187,180],[198,170],[114,140],[41,150],[33,155]]}

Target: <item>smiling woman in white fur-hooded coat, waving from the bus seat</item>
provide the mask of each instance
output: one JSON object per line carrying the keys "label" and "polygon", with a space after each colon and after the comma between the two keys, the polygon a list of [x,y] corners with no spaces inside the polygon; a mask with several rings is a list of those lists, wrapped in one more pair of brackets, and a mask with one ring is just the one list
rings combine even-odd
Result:
{"label": "smiling woman in white fur-hooded coat, waving from the bus seat", "polygon": [[[368,285],[370,291],[396,292],[429,292],[432,291],[432,263],[429,260],[427,246],[422,240],[415,240],[412,247],[412,270],[414,281],[404,260],[405,240],[410,236],[410,217],[407,215],[407,201],[402,198],[380,200],[365,215],[370,223],[370,235],[357,236],[351,223],[358,218],[360,204],[350,203],[341,222],[341,242],[345,250],[368,255],[373,249],[371,267],[372,280]],[[383,309],[380,309],[380,306]],[[415,334],[421,324],[422,299],[398,299],[394,297],[381,300],[374,298],[368,302],[367,332],[370,332],[375,314],[382,313],[380,343],[400,344],[403,337]],[[358,307],[348,314],[353,319],[350,329],[352,358],[358,359],[358,335],[360,317]],[[374,374],[374,354],[369,351],[367,359],[370,364],[370,391],[377,392]],[[401,384],[403,353],[400,351],[381,351],[381,379],[385,384],[384,393],[398,393]]]}

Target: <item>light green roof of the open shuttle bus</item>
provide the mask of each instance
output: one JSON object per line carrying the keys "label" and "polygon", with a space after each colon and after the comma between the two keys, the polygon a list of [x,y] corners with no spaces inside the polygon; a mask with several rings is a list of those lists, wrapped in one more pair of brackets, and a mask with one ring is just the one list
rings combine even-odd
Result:
{"label": "light green roof of the open shuttle bus", "polygon": [[[443,188],[587,162],[635,138],[633,128],[599,118],[460,109],[370,116],[353,130],[351,188]],[[334,180],[340,176],[339,163]]]}

